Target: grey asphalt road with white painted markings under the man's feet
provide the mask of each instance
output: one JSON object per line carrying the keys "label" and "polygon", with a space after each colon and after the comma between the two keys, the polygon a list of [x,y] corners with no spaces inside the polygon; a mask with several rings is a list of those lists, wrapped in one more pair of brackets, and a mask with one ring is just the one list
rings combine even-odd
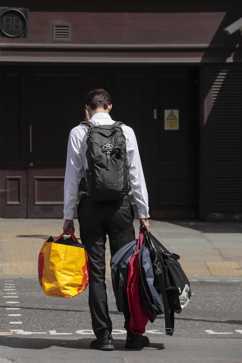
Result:
{"label": "grey asphalt road with white painted markings under the man's feet", "polygon": [[106,283],[114,352],[89,349],[95,337],[87,290],[73,299],[58,299],[45,296],[36,278],[2,277],[0,357],[18,363],[108,363],[110,359],[112,363],[154,363],[162,358],[174,363],[194,358],[197,363],[204,358],[206,362],[242,362],[241,281],[191,282],[192,301],[175,315],[173,337],[164,334],[164,317],[157,317],[147,325],[151,344],[143,350],[124,349],[123,315],[116,310],[109,277]]}

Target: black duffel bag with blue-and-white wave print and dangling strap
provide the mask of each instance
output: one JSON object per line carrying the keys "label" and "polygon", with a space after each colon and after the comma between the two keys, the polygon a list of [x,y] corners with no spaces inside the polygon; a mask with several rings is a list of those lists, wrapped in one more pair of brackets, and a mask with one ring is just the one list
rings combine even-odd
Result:
{"label": "black duffel bag with blue-and-white wave print and dangling strap", "polygon": [[165,311],[165,331],[173,335],[174,312],[179,314],[192,299],[190,282],[177,260],[180,256],[171,253],[143,227],[145,244],[150,251],[154,273],[154,286],[161,295]]}

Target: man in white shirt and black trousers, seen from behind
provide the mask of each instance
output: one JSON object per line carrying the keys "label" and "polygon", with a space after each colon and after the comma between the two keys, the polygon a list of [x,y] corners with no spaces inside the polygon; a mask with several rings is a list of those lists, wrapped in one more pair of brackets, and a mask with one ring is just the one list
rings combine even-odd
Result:
{"label": "man in white shirt and black trousers, seen from behind", "polygon": [[[114,121],[109,112],[112,103],[110,95],[103,89],[95,89],[86,97],[86,109],[93,125],[111,125]],[[122,126],[126,137],[128,164],[130,164],[131,192],[137,206],[142,226],[149,231],[148,195],[141,167],[138,146],[131,127]],[[70,131],[64,184],[64,219],[63,232],[72,231],[74,209],[77,203],[78,187],[87,165],[87,127],[79,125]],[[122,246],[135,240],[133,226],[134,210],[128,196],[114,200],[95,201],[90,195],[83,194],[78,204],[78,221],[80,237],[86,246],[89,257],[89,307],[93,331],[97,337],[91,347],[100,350],[113,350],[112,323],[108,315],[107,294],[105,285],[105,243],[106,234],[110,241],[111,256]],[[67,233],[68,234],[68,233]],[[141,347],[149,344],[143,335],[134,335],[129,329],[130,312],[127,306],[124,312],[127,330],[126,347]]]}

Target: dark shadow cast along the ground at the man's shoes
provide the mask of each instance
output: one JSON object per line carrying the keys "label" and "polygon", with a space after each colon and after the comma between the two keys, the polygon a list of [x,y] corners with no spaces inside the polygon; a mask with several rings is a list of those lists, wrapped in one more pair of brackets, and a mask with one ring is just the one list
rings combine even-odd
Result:
{"label": "dark shadow cast along the ground at the man's shoes", "polygon": [[[63,339],[45,339],[45,338],[15,338],[3,337],[0,338],[0,346],[18,349],[46,349],[50,347],[66,347],[71,349],[88,349],[93,338],[82,338],[77,340],[63,340]],[[125,340],[114,339],[114,347],[117,351],[141,351],[143,349],[162,350],[165,349],[163,343],[150,343],[148,347],[144,348],[125,348]]]}

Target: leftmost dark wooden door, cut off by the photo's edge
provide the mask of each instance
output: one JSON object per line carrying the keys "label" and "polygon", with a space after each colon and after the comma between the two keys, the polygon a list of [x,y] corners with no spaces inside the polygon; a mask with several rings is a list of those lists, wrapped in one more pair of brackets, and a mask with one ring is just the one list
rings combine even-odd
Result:
{"label": "leftmost dark wooden door, cut off by the photo's edge", "polygon": [[0,68],[0,217],[26,217],[26,70]]}

